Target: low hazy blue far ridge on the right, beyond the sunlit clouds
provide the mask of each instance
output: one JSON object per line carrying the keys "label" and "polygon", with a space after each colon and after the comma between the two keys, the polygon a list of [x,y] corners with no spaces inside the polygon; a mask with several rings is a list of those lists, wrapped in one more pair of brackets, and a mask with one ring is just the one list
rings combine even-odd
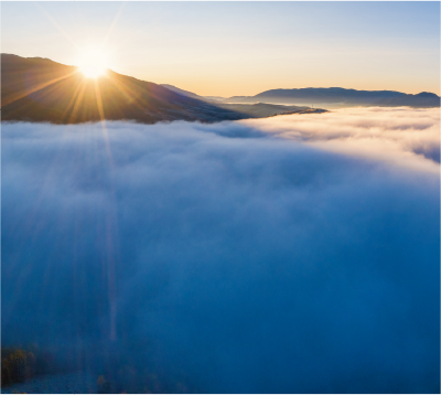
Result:
{"label": "low hazy blue far ridge on the right, beyond the sunlit clouds", "polygon": [[441,97],[432,93],[407,95],[395,90],[356,90],[344,88],[271,89],[256,96],[233,96],[223,103],[271,103],[281,105],[320,105],[324,108],[351,106],[441,107]]}

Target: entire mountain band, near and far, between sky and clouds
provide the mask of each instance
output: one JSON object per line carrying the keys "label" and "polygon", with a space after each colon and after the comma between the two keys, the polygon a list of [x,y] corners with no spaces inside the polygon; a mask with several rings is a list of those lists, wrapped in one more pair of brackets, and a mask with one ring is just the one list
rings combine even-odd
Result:
{"label": "entire mountain band, near and far, between sky and clouds", "polygon": [[256,96],[203,97],[172,85],[158,85],[108,71],[87,79],[77,67],[41,57],[0,54],[0,121],[56,124],[86,121],[189,120],[216,122],[283,114],[322,113],[347,106],[441,107],[432,93],[344,88],[272,89]]}

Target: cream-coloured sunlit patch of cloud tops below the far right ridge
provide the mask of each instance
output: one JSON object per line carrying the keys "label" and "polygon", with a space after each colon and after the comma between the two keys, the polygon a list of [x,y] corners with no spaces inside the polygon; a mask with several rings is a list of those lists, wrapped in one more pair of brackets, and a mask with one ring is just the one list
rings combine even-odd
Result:
{"label": "cream-coloured sunlit patch of cloud tops below the far right ridge", "polygon": [[440,173],[441,110],[359,108],[308,117],[248,120],[282,138],[348,156]]}

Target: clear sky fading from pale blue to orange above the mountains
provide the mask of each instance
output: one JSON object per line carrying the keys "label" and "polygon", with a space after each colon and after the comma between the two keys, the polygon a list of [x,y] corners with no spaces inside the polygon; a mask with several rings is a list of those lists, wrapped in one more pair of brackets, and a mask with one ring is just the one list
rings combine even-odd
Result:
{"label": "clear sky fading from pale blue to orange above the mountains", "polygon": [[434,0],[14,0],[2,3],[0,53],[75,64],[111,25],[111,68],[201,95],[309,86],[441,94]]}

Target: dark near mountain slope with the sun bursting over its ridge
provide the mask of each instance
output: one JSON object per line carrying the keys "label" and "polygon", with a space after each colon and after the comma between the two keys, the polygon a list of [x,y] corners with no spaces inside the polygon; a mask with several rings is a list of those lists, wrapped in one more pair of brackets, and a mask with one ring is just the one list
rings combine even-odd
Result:
{"label": "dark near mountain slope with the sun bursting over its ridge", "polygon": [[207,102],[197,95],[183,95],[112,71],[105,77],[87,79],[77,67],[47,58],[0,54],[0,121],[215,122],[309,111],[298,106]]}

